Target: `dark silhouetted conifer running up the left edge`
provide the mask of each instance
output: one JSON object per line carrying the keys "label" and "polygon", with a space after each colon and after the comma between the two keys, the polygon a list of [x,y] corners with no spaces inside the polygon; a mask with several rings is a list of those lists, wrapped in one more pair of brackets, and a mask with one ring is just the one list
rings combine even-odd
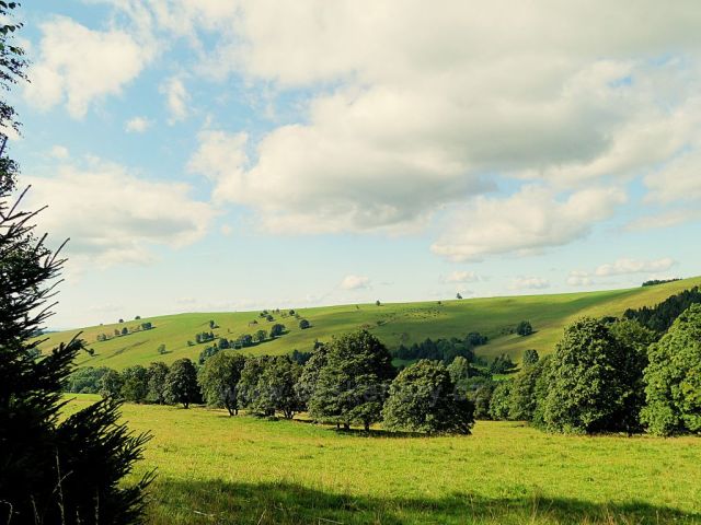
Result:
{"label": "dark silhouetted conifer running up the left edge", "polygon": [[[0,2],[0,88],[24,78],[25,59],[13,35],[14,2]],[[20,127],[0,101],[0,129]],[[126,524],[140,520],[142,490],[120,480],[141,456],[148,436],[118,423],[118,402],[105,398],[71,416],[61,387],[83,348],[73,338],[37,358],[37,338],[51,315],[64,259],[33,225],[36,212],[16,200],[18,165],[0,137],[0,500],[4,523]],[[26,192],[26,191],[25,191]],[[62,412],[62,413],[61,413]],[[68,476],[70,474],[70,476]],[[60,487],[60,490],[57,490]],[[41,516],[41,517],[39,517]],[[37,520],[38,518],[38,520]]]}

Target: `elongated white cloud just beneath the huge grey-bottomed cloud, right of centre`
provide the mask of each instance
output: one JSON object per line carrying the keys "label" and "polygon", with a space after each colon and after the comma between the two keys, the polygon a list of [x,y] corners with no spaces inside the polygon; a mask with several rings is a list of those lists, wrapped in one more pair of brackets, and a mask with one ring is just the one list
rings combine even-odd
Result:
{"label": "elongated white cloud just beneath the huge grey-bottomed cloud, right of centre", "polygon": [[587,235],[593,223],[610,218],[624,201],[625,194],[616,188],[584,189],[564,200],[536,186],[505,199],[481,197],[451,214],[432,249],[457,261],[537,253]]}

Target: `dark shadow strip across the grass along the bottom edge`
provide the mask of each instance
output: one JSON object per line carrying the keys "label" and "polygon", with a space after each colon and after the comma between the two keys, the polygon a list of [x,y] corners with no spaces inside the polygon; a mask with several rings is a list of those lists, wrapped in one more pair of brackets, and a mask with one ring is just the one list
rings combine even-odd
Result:
{"label": "dark shadow strip across the grass along the bottom edge", "polygon": [[160,479],[151,488],[153,523],[701,523],[701,514],[645,502],[597,504],[570,498],[380,499],[336,494],[296,483]]}

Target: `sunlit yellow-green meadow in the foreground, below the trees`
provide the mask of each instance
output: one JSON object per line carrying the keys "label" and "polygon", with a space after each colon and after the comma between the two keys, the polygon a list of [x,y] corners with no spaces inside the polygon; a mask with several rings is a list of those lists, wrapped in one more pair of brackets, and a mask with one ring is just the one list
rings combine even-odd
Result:
{"label": "sunlit yellow-green meadow in the foreground, below the trees", "polygon": [[[78,395],[72,411],[97,396]],[[343,433],[222,410],[125,405],[151,430],[151,524],[701,523],[701,440]]]}

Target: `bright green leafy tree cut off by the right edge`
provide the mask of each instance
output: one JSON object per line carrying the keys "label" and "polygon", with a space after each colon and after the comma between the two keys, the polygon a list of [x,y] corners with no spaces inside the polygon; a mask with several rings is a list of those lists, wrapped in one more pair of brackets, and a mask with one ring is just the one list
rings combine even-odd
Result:
{"label": "bright green leafy tree cut off by the right edge", "polygon": [[701,305],[694,304],[650,347],[641,419],[657,435],[701,431]]}

